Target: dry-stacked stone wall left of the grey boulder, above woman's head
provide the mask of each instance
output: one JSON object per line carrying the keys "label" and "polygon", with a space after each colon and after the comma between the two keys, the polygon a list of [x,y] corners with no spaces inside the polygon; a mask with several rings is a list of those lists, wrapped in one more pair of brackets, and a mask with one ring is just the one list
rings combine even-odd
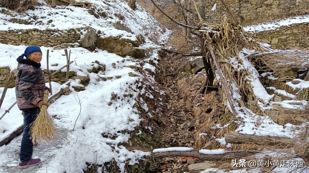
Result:
{"label": "dry-stacked stone wall left of the grey boulder, above woman's head", "polygon": [[77,28],[66,31],[39,30],[36,28],[25,30],[0,31],[0,43],[26,46],[53,47],[62,44],[76,43],[80,40],[81,29]]}

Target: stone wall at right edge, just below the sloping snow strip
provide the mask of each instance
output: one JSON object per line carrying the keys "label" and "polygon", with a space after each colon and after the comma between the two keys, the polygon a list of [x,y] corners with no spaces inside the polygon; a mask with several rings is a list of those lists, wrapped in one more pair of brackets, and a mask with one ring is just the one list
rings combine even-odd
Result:
{"label": "stone wall at right edge, just below the sloping snow strip", "polygon": [[273,49],[309,50],[309,22],[281,26],[279,30],[265,30],[253,35]]}

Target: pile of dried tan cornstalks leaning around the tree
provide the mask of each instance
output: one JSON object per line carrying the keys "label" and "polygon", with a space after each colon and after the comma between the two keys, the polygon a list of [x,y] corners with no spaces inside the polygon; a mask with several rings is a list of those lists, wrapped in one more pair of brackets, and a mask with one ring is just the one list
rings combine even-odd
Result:
{"label": "pile of dried tan cornstalks leaning around the tree", "polygon": [[[227,84],[230,87],[230,90],[238,92],[241,95],[242,99],[235,100],[235,107],[246,107],[243,103],[243,100],[247,100],[248,95],[253,92],[252,86],[248,81],[248,77],[252,76],[252,73],[247,68],[242,68],[244,62],[239,58],[239,52],[246,48],[247,50],[255,50],[256,52],[262,53],[269,51],[267,48],[261,46],[251,35],[244,31],[242,26],[237,26],[233,21],[227,19],[226,17],[222,20],[221,24],[216,23],[203,23],[204,29],[203,32],[204,39],[204,48],[210,52],[208,44],[212,44],[213,51],[218,58],[218,62],[222,68],[222,73],[224,74]],[[207,56],[212,60],[210,53],[207,53]],[[231,58],[235,58],[231,61]],[[252,56],[247,56],[249,62],[252,62]],[[253,64],[252,64],[253,65]],[[212,67],[216,69],[215,66]],[[218,76],[218,72],[216,72]],[[259,79],[255,79],[259,80]],[[221,84],[217,78],[214,79],[214,86]],[[233,86],[233,87],[232,87]],[[226,93],[222,87],[222,97],[223,102],[227,105]],[[256,100],[255,95],[253,94],[253,100]],[[238,105],[237,105],[238,104]],[[257,109],[260,110],[260,107],[257,105]],[[226,111],[229,111],[226,107]]]}

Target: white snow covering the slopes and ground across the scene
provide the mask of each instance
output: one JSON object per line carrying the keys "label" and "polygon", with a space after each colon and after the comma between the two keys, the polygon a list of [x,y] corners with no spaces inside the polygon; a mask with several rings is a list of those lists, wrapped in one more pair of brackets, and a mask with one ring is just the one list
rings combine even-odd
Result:
{"label": "white snow covering the slopes and ground across the scene", "polygon": [[[42,1],[44,2],[44,1]],[[22,18],[32,22],[32,25],[14,24],[8,22],[11,16],[0,13],[0,30],[8,29],[27,29],[27,28],[38,28],[44,30],[46,28],[66,30],[70,28],[78,28],[90,25],[95,30],[100,30],[101,37],[123,35],[134,39],[136,35],[147,35],[145,36],[145,44],[141,45],[143,48],[158,47],[151,38],[157,36],[158,42],[164,41],[168,38],[170,31],[157,26],[156,20],[137,5],[137,10],[131,10],[127,5],[127,2],[120,0],[88,0],[94,5],[101,6],[102,11],[108,14],[107,18],[95,18],[90,15],[85,8],[74,7],[74,6],[57,6],[51,8],[48,6],[37,7],[36,10],[28,10],[27,14],[14,14],[14,18]],[[3,8],[2,8],[3,9]],[[98,8],[99,9],[99,8]],[[98,10],[97,9],[97,10]],[[116,30],[112,24],[119,21],[117,14],[121,14],[124,17],[124,22],[134,34],[127,33],[125,31]],[[32,19],[33,16],[41,18],[40,20],[44,25],[35,24]],[[302,23],[309,18],[308,15],[302,17],[290,18],[277,22],[278,24],[273,25],[275,22],[263,23],[254,26],[246,26],[247,31],[261,31],[263,29],[277,29],[277,26],[289,25],[292,23]],[[48,22],[50,19],[53,22]],[[48,24],[47,24],[48,23]],[[148,26],[147,24],[151,24]],[[276,26],[276,27],[275,27]],[[250,30],[251,28],[251,30]],[[166,32],[165,32],[166,30]],[[26,46],[12,46],[0,44],[0,61],[1,66],[9,66],[11,70],[16,69],[17,62],[16,58],[21,55]],[[52,50],[50,47],[41,47],[43,57],[46,57],[46,50]],[[125,57],[122,58],[116,54],[110,54],[107,51],[97,49],[97,52],[89,52],[83,48],[70,48],[71,60],[74,63],[70,65],[70,70],[75,71],[81,76],[90,76],[90,83],[86,86],[85,91],[75,92],[72,86],[78,85],[78,80],[70,80],[70,95],[62,95],[59,99],[55,100],[54,103],[50,104],[48,111],[53,116],[53,121],[56,124],[57,131],[60,136],[55,142],[44,142],[40,143],[38,147],[34,149],[34,158],[42,159],[42,163],[35,167],[27,168],[19,172],[67,172],[76,173],[83,172],[86,169],[87,163],[102,164],[111,161],[114,158],[120,167],[122,172],[125,172],[124,165],[125,161],[130,159],[130,164],[138,162],[142,156],[149,155],[149,152],[143,151],[129,151],[121,145],[123,142],[128,142],[129,134],[123,131],[133,131],[135,127],[139,125],[141,121],[137,107],[135,107],[135,99],[138,92],[146,92],[143,88],[138,90],[137,86],[143,86],[141,80],[144,78],[141,74],[132,68],[125,66],[133,65],[140,67],[137,64],[137,60]],[[49,64],[58,64],[58,66],[49,66],[50,70],[57,70],[59,67],[66,64],[66,58],[64,50],[53,50],[49,52]],[[157,54],[151,56],[151,59],[157,58]],[[98,60],[100,63],[106,65],[106,71],[100,71],[98,74],[87,72],[88,69],[92,69],[93,66],[98,64],[93,63]],[[156,61],[155,61],[156,62]],[[116,68],[113,68],[113,63],[116,64]],[[42,69],[46,69],[46,59],[43,58]],[[155,69],[155,66],[145,63],[141,66],[144,70]],[[247,68],[247,67],[246,67]],[[250,67],[248,67],[250,68]],[[82,71],[81,71],[82,70]],[[63,70],[65,71],[65,69]],[[137,77],[130,77],[129,72],[137,74]],[[116,78],[121,76],[121,78]],[[103,81],[101,78],[113,77],[110,80]],[[146,78],[150,82],[155,82],[153,77],[147,75]],[[305,81],[302,81],[305,82]],[[290,84],[293,85],[293,84]],[[48,86],[48,84],[47,84]],[[304,85],[302,85],[303,87]],[[52,82],[53,92],[59,89],[60,84]],[[146,86],[143,86],[146,87]],[[15,102],[15,88],[8,89],[4,103],[0,110],[0,115]],[[257,89],[258,90],[258,89]],[[3,88],[0,88],[0,94],[2,94]],[[119,99],[111,101],[111,93],[117,93]],[[257,91],[258,92],[258,91]],[[279,92],[279,91],[277,91]],[[281,91],[280,91],[281,92]],[[236,95],[237,93],[235,93]],[[127,97],[133,95],[133,97]],[[151,98],[151,94],[148,93]],[[264,97],[265,95],[261,95]],[[266,95],[267,96],[267,95]],[[261,98],[263,99],[263,98]],[[265,99],[267,100],[267,99]],[[268,99],[269,100],[269,99]],[[142,101],[142,100],[141,100]],[[283,102],[284,103],[284,102]],[[147,106],[143,108],[147,110]],[[283,126],[274,123],[269,117],[239,115],[244,119],[245,124],[241,125],[237,131],[246,132],[248,134],[256,135],[269,135],[275,136],[288,136],[293,137],[295,131],[293,131],[293,125],[289,124],[285,128],[285,132],[282,132]],[[130,120],[129,120],[130,119]],[[77,121],[76,121],[77,120]],[[76,121],[76,126],[73,130]],[[259,121],[261,125],[255,126],[255,123]],[[0,140],[3,140],[11,132],[15,131],[20,125],[23,124],[23,117],[21,111],[15,106],[11,109],[10,113],[4,116],[0,120]],[[214,128],[224,128],[218,124]],[[151,128],[147,128],[151,129]],[[104,138],[102,135],[114,136],[115,139]],[[11,143],[6,146],[0,147],[0,172],[17,172],[17,165],[19,162],[19,148],[20,148],[21,135],[14,138]],[[225,143],[224,139],[218,139],[220,143]],[[227,147],[231,144],[226,144]],[[181,150],[188,151],[192,148],[166,148],[158,149],[156,152],[161,151],[173,151]],[[206,151],[201,150],[204,154],[222,154],[225,151]],[[287,172],[289,168],[277,167],[274,171],[281,173]],[[99,168],[98,172],[101,171]],[[222,170],[208,169],[203,173],[218,171],[225,172]],[[239,171],[230,171],[230,173]],[[243,173],[260,173],[260,168],[256,169],[243,169],[240,172]]]}

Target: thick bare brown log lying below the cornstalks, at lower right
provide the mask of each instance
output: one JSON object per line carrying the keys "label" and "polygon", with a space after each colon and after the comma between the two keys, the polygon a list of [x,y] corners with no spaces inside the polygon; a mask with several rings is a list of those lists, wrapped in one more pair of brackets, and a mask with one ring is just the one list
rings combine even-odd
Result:
{"label": "thick bare brown log lying below the cornstalks, at lower right", "polygon": [[233,144],[256,144],[285,147],[292,147],[295,145],[290,138],[249,135],[237,133],[235,131],[230,131],[229,133],[224,134],[224,138],[226,143]]}

